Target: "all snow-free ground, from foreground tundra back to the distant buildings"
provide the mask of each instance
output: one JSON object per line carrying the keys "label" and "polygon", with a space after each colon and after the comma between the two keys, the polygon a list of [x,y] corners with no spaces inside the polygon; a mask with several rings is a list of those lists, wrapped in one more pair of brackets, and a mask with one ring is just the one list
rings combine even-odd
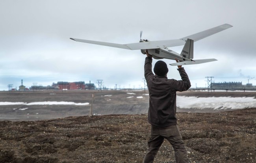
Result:
{"label": "all snow-free ground, from foreground tundra back to the distant buildings", "polygon": [[[150,133],[147,114],[143,114],[147,113],[148,95],[144,91],[127,92],[95,92],[93,112],[111,114],[102,116],[88,117],[90,105],[0,106],[0,163],[141,163]],[[92,93],[0,92],[0,100],[91,103]],[[255,98],[254,92],[178,92],[178,95]],[[24,107],[28,109],[18,110]],[[191,163],[256,162],[256,108],[199,111],[177,113]],[[7,121],[4,117],[8,116],[18,119]],[[46,120],[58,116],[72,117]],[[167,141],[155,162],[175,162]]]}

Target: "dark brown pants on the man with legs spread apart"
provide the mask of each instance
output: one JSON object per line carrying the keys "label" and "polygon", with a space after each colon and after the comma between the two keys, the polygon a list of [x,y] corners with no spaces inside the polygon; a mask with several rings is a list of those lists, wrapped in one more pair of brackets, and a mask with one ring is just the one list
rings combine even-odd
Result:
{"label": "dark brown pants on the man with legs spread apart", "polygon": [[151,125],[150,139],[148,141],[148,150],[143,163],[152,163],[163,140],[167,139],[173,146],[176,163],[188,163],[185,145],[180,135],[177,125],[168,127],[157,127]]}

